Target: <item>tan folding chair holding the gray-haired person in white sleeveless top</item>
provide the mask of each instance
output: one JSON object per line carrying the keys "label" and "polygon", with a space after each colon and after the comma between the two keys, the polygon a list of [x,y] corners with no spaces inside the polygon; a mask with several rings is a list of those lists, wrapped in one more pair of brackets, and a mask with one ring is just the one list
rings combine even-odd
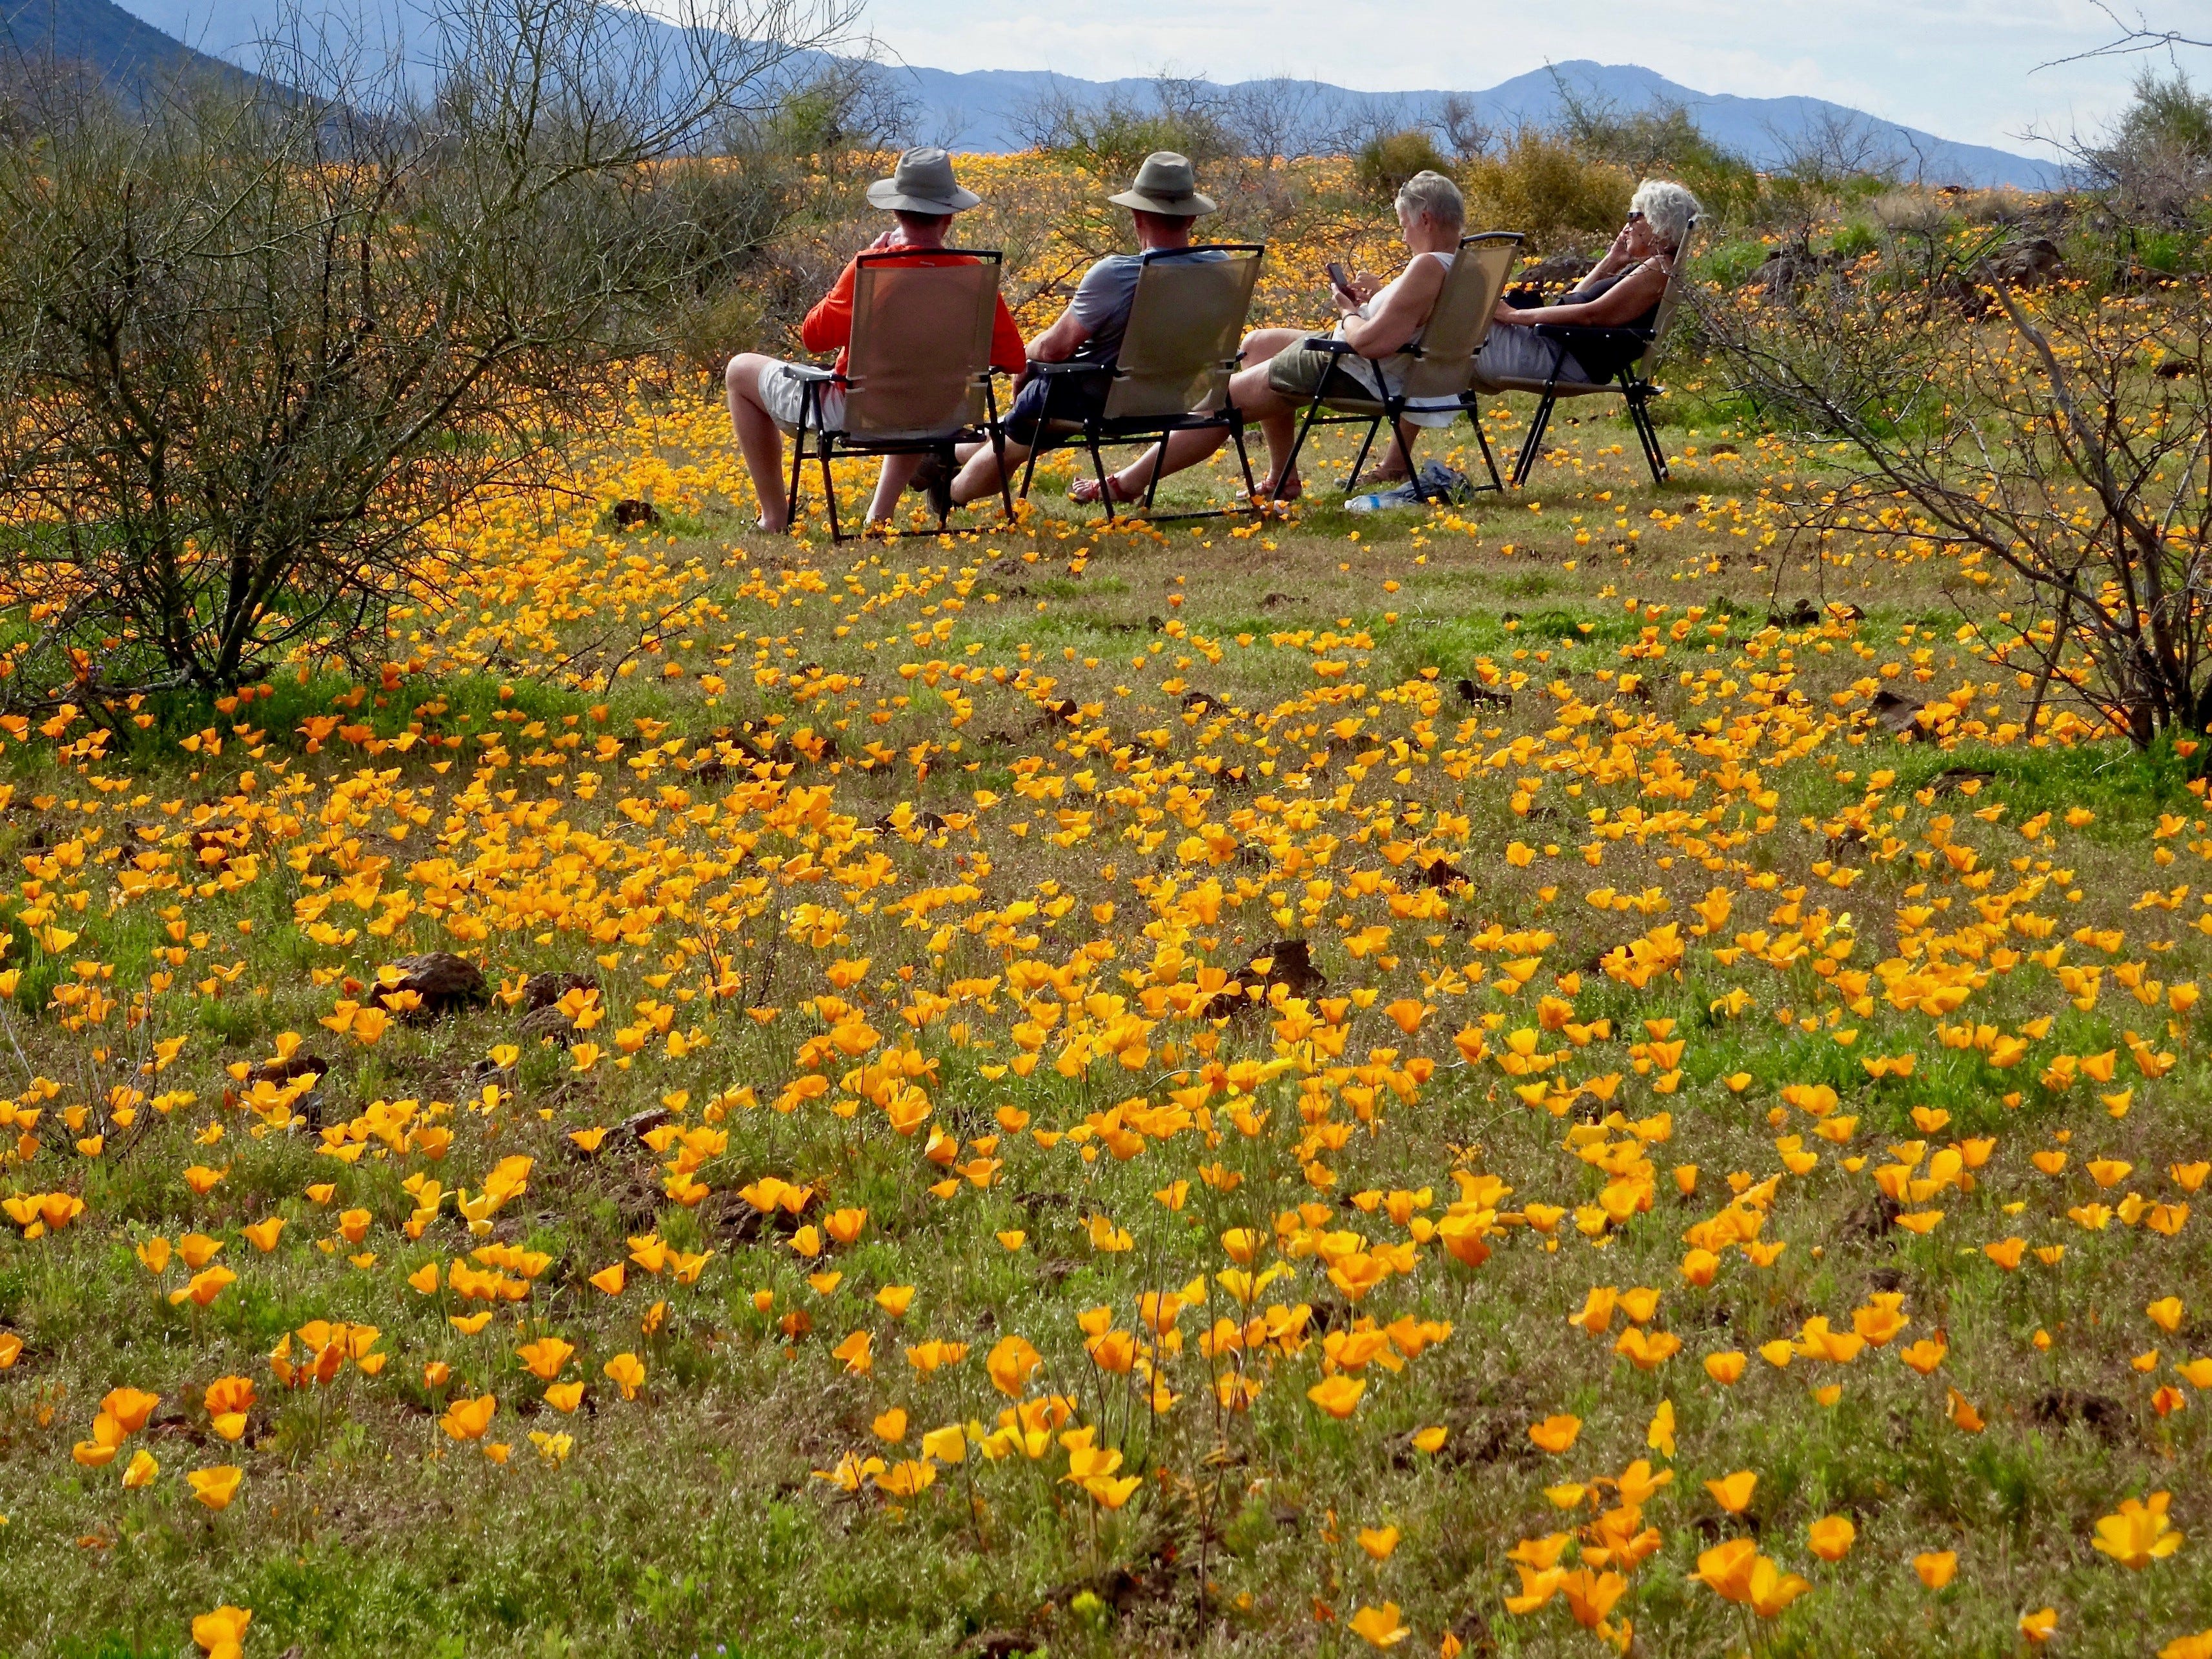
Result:
{"label": "tan folding chair holding the gray-haired person in white sleeveless top", "polygon": [[[1287,478],[1298,465],[1298,451],[1305,447],[1307,431],[1314,427],[1349,427],[1365,420],[1367,436],[1360,440],[1360,453],[1345,476],[1345,489],[1349,491],[1358,482],[1360,467],[1367,465],[1367,451],[1374,449],[1383,422],[1389,422],[1389,429],[1396,434],[1398,422],[1407,414],[1442,414],[1444,409],[1458,414],[1467,409],[1473,414],[1475,442],[1482,445],[1482,465],[1491,469],[1489,489],[1504,489],[1498,478],[1498,460],[1491,456],[1491,440],[1482,431],[1482,416],[1473,409],[1469,383],[1475,374],[1475,352],[1482,349],[1482,341],[1491,332],[1491,312],[1498,310],[1498,299],[1506,292],[1506,279],[1513,274],[1513,261],[1520,257],[1520,243],[1522,237],[1517,230],[1482,230],[1460,239],[1460,252],[1444,274],[1444,285],[1436,294],[1436,307],[1429,312],[1427,325],[1405,352],[1383,358],[1376,365],[1378,383],[1385,387],[1394,374],[1400,374],[1400,365],[1405,365],[1400,392],[1376,398],[1345,394],[1340,392],[1340,383],[1338,389],[1332,389],[1329,383],[1338,380],[1336,365],[1332,363],[1329,374],[1323,374],[1314,387],[1314,400],[1305,407],[1305,420],[1301,420],[1298,436],[1290,445],[1283,476]],[[1338,341],[1329,334],[1310,336],[1305,347],[1310,352],[1327,352],[1336,361],[1356,356],[1349,341]],[[1325,416],[1321,414],[1323,409],[1332,414]],[[1407,467],[1411,462],[1413,458],[1407,456]],[[1418,469],[1413,469],[1413,493],[1420,500],[1429,500],[1429,487],[1422,484]]]}

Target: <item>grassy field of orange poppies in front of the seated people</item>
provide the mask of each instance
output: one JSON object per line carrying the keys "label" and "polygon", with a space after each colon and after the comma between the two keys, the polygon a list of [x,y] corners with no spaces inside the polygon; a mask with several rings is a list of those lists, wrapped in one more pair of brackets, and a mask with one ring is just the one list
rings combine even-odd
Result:
{"label": "grassy field of orange poppies in front of the seated people", "polygon": [[1694,398],[4,721],[0,1646],[2212,1655],[2194,761]]}

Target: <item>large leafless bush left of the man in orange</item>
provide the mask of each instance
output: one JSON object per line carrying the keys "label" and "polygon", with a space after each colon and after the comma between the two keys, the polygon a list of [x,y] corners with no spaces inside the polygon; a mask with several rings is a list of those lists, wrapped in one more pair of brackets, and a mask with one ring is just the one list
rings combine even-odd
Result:
{"label": "large leafless bush left of the man in orange", "polygon": [[[712,2],[712,0],[703,0]],[[551,476],[779,217],[717,137],[845,13],[449,0],[431,88],[305,31],[261,82],[0,139],[7,695],[113,706],[380,644],[429,526]]]}

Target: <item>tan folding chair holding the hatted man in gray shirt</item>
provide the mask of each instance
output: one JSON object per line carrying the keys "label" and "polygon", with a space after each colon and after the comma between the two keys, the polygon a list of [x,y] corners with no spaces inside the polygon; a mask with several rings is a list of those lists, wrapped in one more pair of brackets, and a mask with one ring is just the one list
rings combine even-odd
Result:
{"label": "tan folding chair holding the hatted man in gray shirt", "polygon": [[[1203,431],[1225,427],[1237,442],[1237,462],[1243,467],[1245,500],[1252,498],[1252,458],[1243,442],[1243,414],[1230,398],[1230,376],[1243,363],[1239,341],[1245,316],[1252,310],[1252,290],[1259,285],[1259,268],[1265,259],[1265,243],[1201,243],[1197,248],[1155,248],[1144,257],[1137,274],[1137,296],[1128,314],[1128,332],[1121,336],[1121,354],[1113,365],[1113,385],[1106,389],[1106,405],[1097,416],[1082,420],[1053,418],[1053,403],[1062,398],[1062,387],[1086,374],[1104,374],[1097,363],[1031,363],[1029,372],[1046,378],[1044,414],[1037,420],[1037,442],[1029,451],[1022,469],[1022,498],[1029,498],[1029,480],[1037,471],[1037,456],[1044,449],[1066,449],[1084,445],[1091,451],[1091,469],[1099,480],[1099,500],[1106,518],[1113,518],[1113,487],[1106,482],[1106,460],[1102,445],[1166,445],[1172,431]],[[1152,478],[1144,487],[1144,511],[1152,518],[1217,518],[1223,511],[1201,513],[1152,513],[1159,493],[1159,462],[1152,462]]]}

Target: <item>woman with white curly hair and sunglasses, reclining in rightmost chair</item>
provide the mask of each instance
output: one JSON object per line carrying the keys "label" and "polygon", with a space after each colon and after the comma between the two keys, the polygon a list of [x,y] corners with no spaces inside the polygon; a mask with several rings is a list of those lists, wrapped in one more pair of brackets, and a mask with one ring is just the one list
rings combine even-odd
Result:
{"label": "woman with white curly hair and sunglasses, reclining in rightmost chair", "polygon": [[[1674,261],[1699,201],[1670,179],[1646,179],[1628,201],[1628,223],[1597,268],[1555,305],[1500,301],[1491,332],[1475,358],[1475,383],[1610,378],[1624,349],[1641,352],[1619,334],[1632,330],[1650,338],[1659,301],[1674,281]],[[1557,332],[1555,332],[1557,330]],[[1582,330],[1593,330],[1582,334]]]}

